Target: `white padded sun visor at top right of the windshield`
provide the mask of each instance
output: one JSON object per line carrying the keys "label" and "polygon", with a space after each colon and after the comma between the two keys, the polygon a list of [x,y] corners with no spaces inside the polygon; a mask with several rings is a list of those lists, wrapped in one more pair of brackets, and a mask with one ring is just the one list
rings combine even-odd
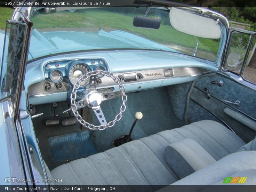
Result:
{"label": "white padded sun visor at top right of the windshield", "polygon": [[172,7],[169,16],[172,27],[178,31],[211,39],[221,37],[221,28],[214,19],[175,7]]}

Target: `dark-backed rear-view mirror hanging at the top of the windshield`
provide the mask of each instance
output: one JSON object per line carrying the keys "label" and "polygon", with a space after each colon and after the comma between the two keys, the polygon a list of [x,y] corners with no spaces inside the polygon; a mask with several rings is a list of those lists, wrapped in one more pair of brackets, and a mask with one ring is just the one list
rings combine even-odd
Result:
{"label": "dark-backed rear-view mirror hanging at the top of the windshield", "polygon": [[133,26],[141,28],[159,29],[161,20],[136,16],[133,18]]}

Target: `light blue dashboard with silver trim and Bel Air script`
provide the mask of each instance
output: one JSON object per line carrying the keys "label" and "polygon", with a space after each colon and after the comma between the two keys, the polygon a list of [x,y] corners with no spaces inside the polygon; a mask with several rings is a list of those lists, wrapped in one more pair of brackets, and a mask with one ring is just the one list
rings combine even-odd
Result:
{"label": "light blue dashboard with silver trim and Bel Air script", "polygon": [[[198,76],[216,71],[217,68],[177,53],[156,51],[108,51],[53,56],[28,63],[25,89],[29,103],[36,105],[68,100],[76,81],[94,70],[112,72],[121,80],[126,92],[134,92],[194,81]],[[36,78],[32,79],[28,75],[32,73]],[[101,93],[119,89],[114,80],[107,76],[97,76],[96,83]],[[88,84],[89,79],[81,84],[79,91],[88,89]]]}

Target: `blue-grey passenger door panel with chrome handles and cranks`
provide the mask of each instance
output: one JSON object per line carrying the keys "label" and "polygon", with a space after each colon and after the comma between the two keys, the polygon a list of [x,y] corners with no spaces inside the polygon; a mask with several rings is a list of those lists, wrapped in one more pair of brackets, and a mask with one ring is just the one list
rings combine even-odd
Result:
{"label": "blue-grey passenger door panel with chrome handles and cranks", "polygon": [[[212,82],[219,81],[223,82],[222,86],[212,84]],[[210,99],[207,97],[205,88],[208,89]],[[232,102],[239,100],[241,105],[231,104],[225,100]],[[198,79],[190,95],[189,108],[188,121],[190,122],[195,121],[196,118],[197,120],[209,119],[209,114],[211,114],[210,119],[227,124],[245,142],[251,141],[256,136],[255,129],[252,129],[252,126],[256,124],[256,91],[233,81],[221,72]],[[235,111],[236,116],[244,118],[234,119],[234,116],[227,114],[227,109]],[[197,115],[199,113],[201,115]]]}

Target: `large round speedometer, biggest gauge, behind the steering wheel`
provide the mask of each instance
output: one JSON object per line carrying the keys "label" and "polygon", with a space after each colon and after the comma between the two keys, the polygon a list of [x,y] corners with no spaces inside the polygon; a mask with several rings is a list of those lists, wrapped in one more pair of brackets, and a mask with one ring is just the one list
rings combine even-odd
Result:
{"label": "large round speedometer, biggest gauge, behind the steering wheel", "polygon": [[[77,64],[73,65],[68,72],[68,77],[69,77],[70,83],[72,85],[76,84],[78,79],[80,79],[81,76],[88,73],[89,71],[90,71],[89,66],[84,63],[77,63]],[[83,83],[81,84],[80,87],[87,85],[88,82],[89,82],[89,78],[86,79],[85,81],[83,81]]]}

